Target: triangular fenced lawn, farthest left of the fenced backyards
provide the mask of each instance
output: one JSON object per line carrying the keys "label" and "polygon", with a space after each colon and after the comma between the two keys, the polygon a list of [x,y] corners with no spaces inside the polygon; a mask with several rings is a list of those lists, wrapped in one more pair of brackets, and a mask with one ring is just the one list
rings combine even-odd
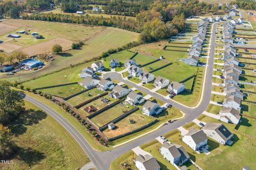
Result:
{"label": "triangular fenced lawn, farthest left of the fenced backyards", "polygon": [[83,89],[84,87],[80,86],[79,84],[72,84],[68,86],[54,87],[54,88],[42,89],[38,91],[42,91],[51,95],[57,95],[60,97],[68,97],[73,94],[76,94],[77,92]]}

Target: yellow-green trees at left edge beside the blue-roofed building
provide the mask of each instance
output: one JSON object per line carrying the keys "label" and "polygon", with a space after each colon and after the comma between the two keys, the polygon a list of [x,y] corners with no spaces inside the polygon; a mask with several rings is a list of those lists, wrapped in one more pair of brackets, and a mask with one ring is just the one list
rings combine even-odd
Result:
{"label": "yellow-green trees at left edge beside the blue-roofed building", "polygon": [[27,57],[27,54],[23,53],[20,50],[13,52],[11,55],[0,53],[0,65],[3,65],[5,62],[14,64],[17,61],[20,62],[22,60],[25,60]]}

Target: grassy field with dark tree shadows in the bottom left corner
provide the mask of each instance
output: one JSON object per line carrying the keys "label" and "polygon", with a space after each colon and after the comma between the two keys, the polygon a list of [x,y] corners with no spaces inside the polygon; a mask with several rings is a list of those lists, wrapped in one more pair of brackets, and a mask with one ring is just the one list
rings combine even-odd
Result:
{"label": "grassy field with dark tree shadows in the bottom left corner", "polygon": [[17,152],[1,169],[78,169],[90,162],[73,137],[51,116],[26,102],[27,111],[9,125]]}

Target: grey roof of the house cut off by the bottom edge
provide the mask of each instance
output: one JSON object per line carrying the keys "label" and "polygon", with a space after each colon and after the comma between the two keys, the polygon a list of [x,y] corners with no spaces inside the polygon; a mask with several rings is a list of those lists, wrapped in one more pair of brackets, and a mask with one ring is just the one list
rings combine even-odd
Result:
{"label": "grey roof of the house cut off by the bottom edge", "polygon": [[146,170],[156,170],[160,168],[156,158],[148,154],[145,156],[139,154],[135,160],[142,163]]}

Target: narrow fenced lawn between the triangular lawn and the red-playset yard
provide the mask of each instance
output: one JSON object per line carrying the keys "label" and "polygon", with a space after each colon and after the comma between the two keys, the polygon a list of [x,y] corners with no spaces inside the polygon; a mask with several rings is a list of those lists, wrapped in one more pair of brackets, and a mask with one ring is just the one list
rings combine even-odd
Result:
{"label": "narrow fenced lawn between the triangular lawn and the red-playset yard", "polygon": [[71,105],[76,106],[76,105],[81,104],[84,101],[89,100],[89,99],[91,99],[91,98],[93,98],[93,97],[95,97],[95,96],[97,96],[99,94],[103,94],[103,92],[104,91],[101,91],[101,90],[99,90],[97,88],[94,88],[94,89],[91,89],[89,91],[85,91],[82,94],[77,95],[77,96],[75,96],[75,97],[73,97],[71,99],[68,99],[67,101]]}

